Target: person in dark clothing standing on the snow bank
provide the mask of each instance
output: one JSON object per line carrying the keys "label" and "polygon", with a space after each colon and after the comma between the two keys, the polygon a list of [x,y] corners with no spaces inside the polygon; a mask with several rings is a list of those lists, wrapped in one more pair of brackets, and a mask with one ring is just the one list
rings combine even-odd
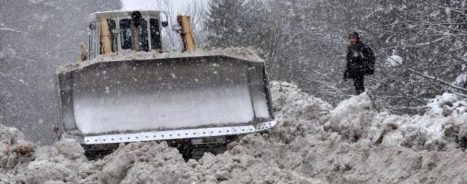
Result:
{"label": "person in dark clothing standing on the snow bank", "polygon": [[360,40],[357,32],[349,34],[350,45],[347,46],[347,64],[345,65],[344,81],[354,80],[355,93],[365,91],[364,76],[374,74],[374,54],[370,47]]}

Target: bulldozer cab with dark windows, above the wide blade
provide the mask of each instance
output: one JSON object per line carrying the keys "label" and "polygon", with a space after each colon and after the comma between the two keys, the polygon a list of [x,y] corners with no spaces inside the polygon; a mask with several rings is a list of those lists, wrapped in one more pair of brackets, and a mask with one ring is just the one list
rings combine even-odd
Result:
{"label": "bulldozer cab with dark windows, above the wide blade", "polygon": [[[167,26],[161,11],[108,11],[89,16],[88,53],[103,54],[103,33],[109,33],[111,52],[161,50],[161,28]],[[105,30],[104,30],[105,29]]]}

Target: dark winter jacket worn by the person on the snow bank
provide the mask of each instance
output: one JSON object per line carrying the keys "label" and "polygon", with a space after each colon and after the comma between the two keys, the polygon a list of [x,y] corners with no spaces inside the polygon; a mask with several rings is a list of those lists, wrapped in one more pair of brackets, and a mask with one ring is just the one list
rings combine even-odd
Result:
{"label": "dark winter jacket worn by the person on the snow bank", "polygon": [[347,64],[344,79],[361,78],[374,72],[374,54],[370,47],[362,41],[347,46]]}

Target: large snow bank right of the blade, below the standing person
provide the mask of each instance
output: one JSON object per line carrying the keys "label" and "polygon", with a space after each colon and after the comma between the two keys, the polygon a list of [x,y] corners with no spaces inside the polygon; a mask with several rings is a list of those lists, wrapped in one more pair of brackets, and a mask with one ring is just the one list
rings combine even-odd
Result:
{"label": "large snow bank right of the blade, below the standing person", "polygon": [[[463,175],[467,171],[463,168],[467,164],[463,161],[467,159],[462,150],[408,148],[410,141],[423,145],[422,138],[429,137],[425,131],[430,130],[430,125],[423,118],[433,123],[446,117],[376,113],[366,93],[345,100],[332,110],[328,103],[302,93],[294,84],[273,81],[271,85],[278,125],[267,134],[246,135],[231,144],[230,152],[246,152],[284,171],[328,183],[466,181]],[[321,117],[315,116],[320,113]],[[446,137],[441,139],[446,144],[458,144]]]}

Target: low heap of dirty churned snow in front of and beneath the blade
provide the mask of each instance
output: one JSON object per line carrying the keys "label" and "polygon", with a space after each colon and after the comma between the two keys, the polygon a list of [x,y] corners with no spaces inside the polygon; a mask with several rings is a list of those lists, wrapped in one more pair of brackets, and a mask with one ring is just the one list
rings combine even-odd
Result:
{"label": "low heap of dirty churned snow in front of and beneath the blade", "polygon": [[[8,129],[2,126],[1,135]],[[188,162],[166,142],[122,144],[98,161],[88,161],[72,139],[32,153],[26,161],[2,166],[0,183],[322,183],[256,158],[239,146]]]}

